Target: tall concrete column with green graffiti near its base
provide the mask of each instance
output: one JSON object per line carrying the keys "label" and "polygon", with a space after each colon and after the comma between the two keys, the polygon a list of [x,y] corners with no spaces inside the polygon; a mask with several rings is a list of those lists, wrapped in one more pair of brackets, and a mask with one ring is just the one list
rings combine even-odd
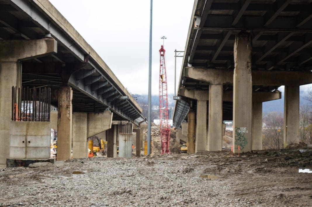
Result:
{"label": "tall concrete column with green graffiti near its base", "polygon": [[239,34],[234,43],[233,75],[233,151],[251,151],[252,139],[252,81],[251,36]]}

